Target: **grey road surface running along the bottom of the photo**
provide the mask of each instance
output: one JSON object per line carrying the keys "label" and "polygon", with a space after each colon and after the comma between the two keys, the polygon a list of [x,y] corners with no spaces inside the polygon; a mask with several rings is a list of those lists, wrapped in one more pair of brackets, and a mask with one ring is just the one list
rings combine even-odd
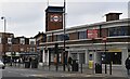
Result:
{"label": "grey road surface running along the bottom of the photo", "polygon": [[127,77],[93,77],[77,73],[43,71],[41,69],[6,67],[2,70],[2,79],[129,79]]}

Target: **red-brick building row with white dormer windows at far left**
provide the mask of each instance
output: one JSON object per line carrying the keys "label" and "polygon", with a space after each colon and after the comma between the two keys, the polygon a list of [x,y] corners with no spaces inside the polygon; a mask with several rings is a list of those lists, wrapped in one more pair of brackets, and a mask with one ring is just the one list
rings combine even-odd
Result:
{"label": "red-brick building row with white dormer windows at far left", "polygon": [[14,37],[10,32],[0,32],[0,55],[11,56],[15,53],[15,56],[20,56],[21,53],[36,53],[36,38]]}

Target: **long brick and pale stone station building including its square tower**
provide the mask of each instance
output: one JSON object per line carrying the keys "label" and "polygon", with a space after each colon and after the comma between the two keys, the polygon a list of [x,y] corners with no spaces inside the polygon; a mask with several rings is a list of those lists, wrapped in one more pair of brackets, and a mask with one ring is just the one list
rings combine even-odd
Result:
{"label": "long brick and pale stone station building including its square tower", "polygon": [[63,8],[56,6],[49,6],[46,10],[48,15],[47,41],[39,45],[43,51],[42,62],[44,64],[49,65],[54,62],[55,43],[58,43],[58,61],[62,63],[65,39],[67,56],[78,60],[79,64],[88,65],[89,61],[103,63],[105,53],[110,53],[109,60],[113,65],[125,65],[125,61],[130,54],[129,18],[119,19],[121,13],[108,13],[106,22],[66,28],[64,35],[63,10]]}

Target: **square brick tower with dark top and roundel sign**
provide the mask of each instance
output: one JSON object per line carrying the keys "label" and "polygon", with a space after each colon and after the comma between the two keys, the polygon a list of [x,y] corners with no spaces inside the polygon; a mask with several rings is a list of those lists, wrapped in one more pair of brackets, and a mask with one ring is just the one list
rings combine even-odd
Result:
{"label": "square brick tower with dark top and roundel sign", "polygon": [[46,31],[63,29],[63,6],[48,6],[46,10]]}

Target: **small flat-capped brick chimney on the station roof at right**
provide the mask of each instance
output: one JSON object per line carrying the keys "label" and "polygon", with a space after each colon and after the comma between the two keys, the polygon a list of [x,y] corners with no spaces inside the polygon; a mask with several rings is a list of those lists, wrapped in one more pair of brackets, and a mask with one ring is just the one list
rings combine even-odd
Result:
{"label": "small flat-capped brick chimney on the station roof at right", "polygon": [[122,13],[108,13],[108,14],[105,14],[105,16],[106,16],[106,22],[119,19],[119,15],[120,15],[120,14],[122,14]]}

